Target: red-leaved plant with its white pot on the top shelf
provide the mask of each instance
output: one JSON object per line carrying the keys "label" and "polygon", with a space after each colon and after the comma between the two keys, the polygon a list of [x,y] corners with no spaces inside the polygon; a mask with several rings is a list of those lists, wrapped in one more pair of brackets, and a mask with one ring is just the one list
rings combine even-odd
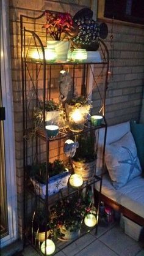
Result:
{"label": "red-leaved plant with its white pot on the top shelf", "polygon": [[[55,48],[58,60],[67,60],[69,38],[76,36],[77,29],[73,26],[73,19],[70,13],[58,13],[46,10],[46,28],[48,36],[52,40],[47,41],[47,48]],[[67,40],[63,40],[67,37]]]}

